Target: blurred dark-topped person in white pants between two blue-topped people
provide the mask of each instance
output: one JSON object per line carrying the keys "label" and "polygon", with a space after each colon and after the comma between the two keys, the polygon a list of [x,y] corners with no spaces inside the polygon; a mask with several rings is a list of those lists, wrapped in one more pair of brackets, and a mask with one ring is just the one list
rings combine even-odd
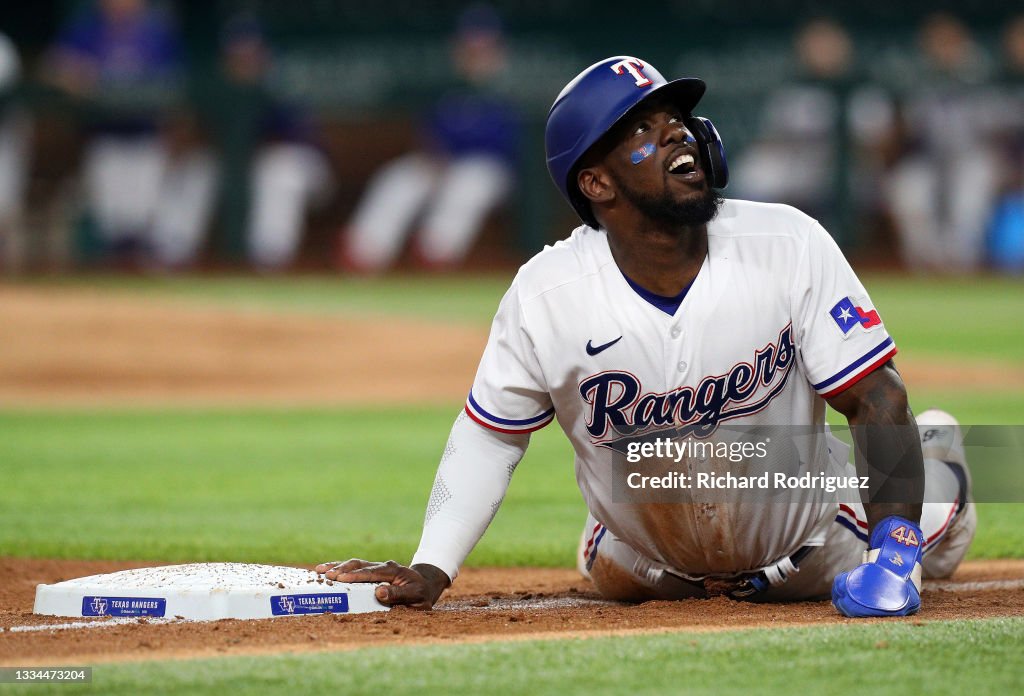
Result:
{"label": "blurred dark-topped person in white pants between two blue-topped people", "polygon": [[202,99],[221,155],[221,224],[228,251],[257,268],[292,263],[310,205],[332,189],[330,164],[307,116],[268,86],[271,51],[260,23],[238,15],[221,36],[220,76]]}

